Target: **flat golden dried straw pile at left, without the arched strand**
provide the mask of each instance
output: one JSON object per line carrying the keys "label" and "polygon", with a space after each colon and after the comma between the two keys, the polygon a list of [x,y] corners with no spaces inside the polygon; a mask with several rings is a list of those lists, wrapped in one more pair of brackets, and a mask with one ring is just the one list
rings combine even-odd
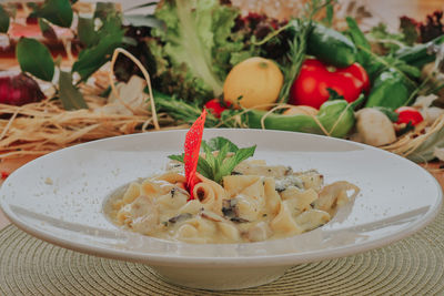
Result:
{"label": "flat golden dried straw pile at left, without the arched strand", "polygon": [[[89,105],[103,105],[103,99],[85,96]],[[42,155],[91,140],[147,132],[153,127],[151,116],[95,113],[92,110],[65,111],[58,101],[44,100],[23,106],[0,104],[0,159]],[[162,125],[172,120],[159,114]]]}

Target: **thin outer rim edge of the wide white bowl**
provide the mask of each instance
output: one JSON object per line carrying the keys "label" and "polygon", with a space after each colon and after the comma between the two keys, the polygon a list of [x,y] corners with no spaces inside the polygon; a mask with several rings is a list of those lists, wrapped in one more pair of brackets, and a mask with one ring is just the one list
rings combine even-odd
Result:
{"label": "thin outer rim edge of the wide white bowl", "polygon": [[[205,129],[205,131],[238,131],[238,129]],[[174,132],[185,132],[186,130],[171,130],[171,131],[154,131],[150,133],[174,133]],[[301,133],[295,133],[295,132],[283,132],[283,131],[266,131],[266,132],[275,132],[275,133],[286,133],[287,135],[292,134],[301,134]],[[50,154],[43,155],[39,157],[39,160],[44,160],[44,157],[51,157],[54,153],[61,153],[68,150],[74,150],[74,149],[82,149],[83,146],[91,145],[95,142],[101,142],[101,141],[108,141],[110,139],[117,139],[117,137],[131,137],[131,136],[141,136],[141,135],[147,135],[150,133],[144,133],[144,134],[130,134],[130,135],[120,135],[120,136],[113,136],[113,137],[108,137],[108,139],[101,139],[97,141],[91,141],[88,143],[82,143],[78,144],[74,146],[65,147],[60,151],[52,152]],[[307,135],[307,134],[303,134]],[[325,137],[322,135],[314,135],[310,134],[310,136],[314,137]],[[331,139],[332,141],[344,141],[344,142],[350,142],[347,140],[342,140],[342,139]],[[361,143],[355,143],[355,142],[350,142],[353,143],[356,146],[364,147],[366,150],[377,150],[380,153],[386,153],[390,154],[393,157],[397,157],[401,161],[408,161],[402,156],[398,156],[396,154],[383,151],[381,149],[376,149],[373,146],[369,146],[365,144]],[[31,162],[32,163],[32,162]],[[21,171],[26,170],[26,167],[30,165],[30,163],[23,165],[16,172],[13,172],[11,175],[14,174],[20,174]],[[430,172],[427,172],[425,169],[417,165],[418,169],[423,170],[433,180],[433,183],[435,186],[441,188],[440,183],[436,181],[435,177],[432,176]],[[3,186],[7,185],[8,180],[3,183]],[[0,187],[0,193],[1,193],[1,187]],[[147,264],[152,264],[152,265],[159,265],[159,266],[181,266],[183,264],[186,264],[189,266],[219,266],[219,267],[228,267],[228,266],[236,266],[236,267],[242,267],[242,266],[291,266],[294,264],[303,264],[303,263],[310,263],[310,262],[317,262],[317,261],[323,261],[323,259],[333,259],[333,258],[339,258],[339,257],[344,257],[344,256],[351,256],[355,254],[360,254],[366,251],[371,251],[374,248],[380,248],[386,245],[390,245],[394,242],[397,242],[400,239],[403,239],[417,231],[424,228],[427,226],[440,213],[442,203],[443,203],[443,193],[440,190],[438,191],[438,196],[436,198],[436,204],[434,204],[428,211],[428,213],[424,216],[423,220],[421,221],[415,221],[410,227],[403,228],[396,233],[394,233],[391,236],[387,237],[382,237],[377,238],[371,242],[364,242],[356,245],[351,245],[351,246],[342,246],[342,247],[336,247],[334,249],[327,249],[325,252],[314,252],[314,253],[291,253],[291,254],[282,254],[282,255],[266,255],[266,256],[252,256],[252,257],[182,257],[182,256],[169,256],[169,255],[152,255],[152,254],[140,254],[137,252],[130,252],[130,251],[124,251],[122,252],[121,249],[109,249],[100,246],[90,246],[87,244],[82,243],[77,243],[72,242],[69,239],[63,239],[59,238],[57,236],[53,236],[51,234],[48,234],[46,232],[42,232],[36,227],[32,227],[30,225],[27,225],[23,223],[14,213],[13,211],[9,207],[8,204],[4,204],[4,200],[1,198],[0,196],[0,207],[3,210],[3,213],[7,215],[7,217],[14,224],[17,225],[20,229],[24,231],[26,233],[36,236],[42,241],[49,242],[51,244],[81,252],[84,254],[90,254],[94,256],[100,256],[100,257],[107,257],[107,258],[112,258],[112,259],[123,259],[123,261],[129,261],[129,262],[138,262],[138,263],[147,263]]]}

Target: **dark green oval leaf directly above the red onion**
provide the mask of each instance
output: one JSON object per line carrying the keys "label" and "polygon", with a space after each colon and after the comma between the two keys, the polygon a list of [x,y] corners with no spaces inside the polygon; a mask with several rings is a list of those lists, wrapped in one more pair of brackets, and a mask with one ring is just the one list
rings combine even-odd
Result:
{"label": "dark green oval leaf directly above the red onion", "polygon": [[17,44],[16,57],[21,71],[52,81],[54,75],[54,61],[49,49],[34,39],[22,38]]}

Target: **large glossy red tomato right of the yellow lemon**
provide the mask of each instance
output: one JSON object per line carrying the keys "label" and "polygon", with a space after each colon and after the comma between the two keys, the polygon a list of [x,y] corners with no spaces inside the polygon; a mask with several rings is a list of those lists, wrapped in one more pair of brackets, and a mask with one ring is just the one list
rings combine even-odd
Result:
{"label": "large glossy red tomato right of the yellow lemon", "polygon": [[319,60],[307,59],[293,82],[289,103],[319,109],[330,98],[327,89],[353,102],[369,86],[369,75],[357,63],[344,69],[330,69]]}

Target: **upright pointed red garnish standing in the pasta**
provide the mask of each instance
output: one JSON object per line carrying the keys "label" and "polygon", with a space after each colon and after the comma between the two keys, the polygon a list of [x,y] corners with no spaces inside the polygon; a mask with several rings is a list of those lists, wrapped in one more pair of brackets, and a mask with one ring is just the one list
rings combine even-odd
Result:
{"label": "upright pointed red garnish standing in the pasta", "polygon": [[190,198],[194,200],[193,188],[196,183],[195,171],[198,169],[199,151],[201,150],[203,126],[205,124],[206,110],[202,111],[199,119],[191,125],[185,136],[185,164],[186,188],[190,192]]}

